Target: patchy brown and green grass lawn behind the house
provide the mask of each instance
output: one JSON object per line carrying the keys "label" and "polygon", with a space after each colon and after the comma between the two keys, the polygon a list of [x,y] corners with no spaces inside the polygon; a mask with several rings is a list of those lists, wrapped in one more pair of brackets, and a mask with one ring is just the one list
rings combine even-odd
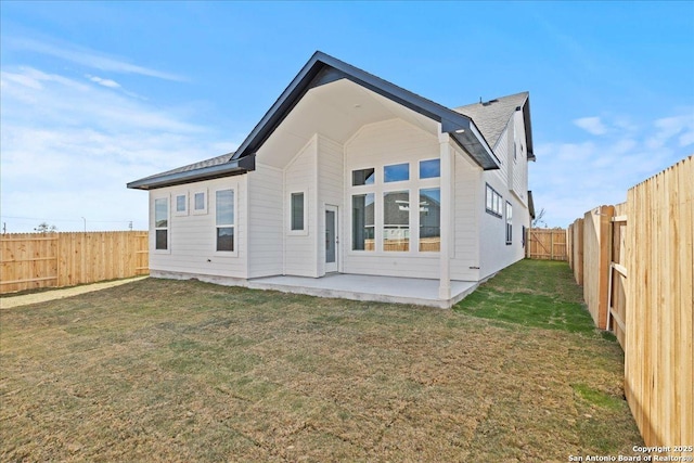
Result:
{"label": "patchy brown and green grass lawn behind the house", "polygon": [[568,461],[642,445],[565,263],[453,310],[147,279],[0,311],[2,461]]}

